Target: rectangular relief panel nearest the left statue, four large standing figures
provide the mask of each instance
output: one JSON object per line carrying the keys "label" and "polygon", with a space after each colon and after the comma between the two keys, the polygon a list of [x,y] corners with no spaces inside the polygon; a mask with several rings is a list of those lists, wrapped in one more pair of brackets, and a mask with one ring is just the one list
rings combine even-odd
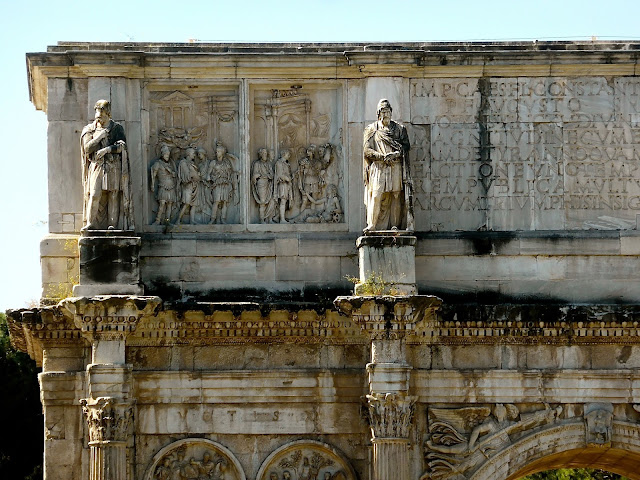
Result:
{"label": "rectangular relief panel nearest the left statue, four large standing figures", "polygon": [[156,88],[149,94],[148,158],[156,159],[149,171],[149,223],[240,223],[237,89]]}

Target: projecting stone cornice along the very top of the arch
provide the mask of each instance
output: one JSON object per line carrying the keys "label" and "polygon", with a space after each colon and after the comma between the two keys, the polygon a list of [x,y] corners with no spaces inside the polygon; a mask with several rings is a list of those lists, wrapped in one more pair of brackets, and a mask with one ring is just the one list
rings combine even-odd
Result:
{"label": "projecting stone cornice along the very top of the arch", "polygon": [[29,95],[47,110],[47,79],[357,79],[373,76],[637,75],[640,43],[82,43],[27,54]]}

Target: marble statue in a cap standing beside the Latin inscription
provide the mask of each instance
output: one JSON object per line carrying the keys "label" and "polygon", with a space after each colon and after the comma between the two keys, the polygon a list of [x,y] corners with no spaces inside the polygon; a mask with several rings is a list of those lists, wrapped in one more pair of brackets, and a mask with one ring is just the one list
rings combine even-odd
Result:
{"label": "marble statue in a cap standing beside the Latin inscription", "polygon": [[389,100],[378,102],[378,121],[364,130],[365,233],[379,230],[413,230],[409,136],[391,120]]}

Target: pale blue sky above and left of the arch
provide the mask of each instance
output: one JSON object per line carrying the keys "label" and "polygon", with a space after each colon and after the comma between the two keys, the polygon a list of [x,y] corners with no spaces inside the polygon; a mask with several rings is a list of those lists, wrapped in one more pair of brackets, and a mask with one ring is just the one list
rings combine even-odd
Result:
{"label": "pale blue sky above and left of the arch", "polygon": [[0,311],[39,298],[47,233],[47,121],[29,102],[27,52],[58,41],[640,40],[638,0],[0,0],[0,11]]}

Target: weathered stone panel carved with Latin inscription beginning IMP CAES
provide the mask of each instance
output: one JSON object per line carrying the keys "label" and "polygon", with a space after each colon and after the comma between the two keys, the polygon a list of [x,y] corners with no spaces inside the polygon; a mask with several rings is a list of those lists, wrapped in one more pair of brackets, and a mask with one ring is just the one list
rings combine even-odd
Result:
{"label": "weathered stone panel carved with Latin inscription beginning IMP CAES", "polygon": [[413,81],[417,229],[635,229],[638,94],[635,78]]}

